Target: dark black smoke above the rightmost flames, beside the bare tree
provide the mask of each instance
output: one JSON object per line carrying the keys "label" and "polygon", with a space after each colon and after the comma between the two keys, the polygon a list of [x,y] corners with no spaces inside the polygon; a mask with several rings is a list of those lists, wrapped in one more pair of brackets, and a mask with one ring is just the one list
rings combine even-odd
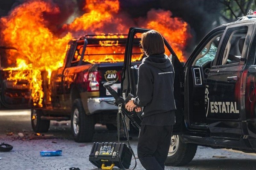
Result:
{"label": "dark black smoke above the rightmost flames, beside the bare tree", "polygon": [[221,24],[223,6],[217,0],[120,0],[120,3],[121,8],[134,18],[146,16],[151,8],[161,8],[189,23],[193,38],[187,51],[192,51],[208,31]]}

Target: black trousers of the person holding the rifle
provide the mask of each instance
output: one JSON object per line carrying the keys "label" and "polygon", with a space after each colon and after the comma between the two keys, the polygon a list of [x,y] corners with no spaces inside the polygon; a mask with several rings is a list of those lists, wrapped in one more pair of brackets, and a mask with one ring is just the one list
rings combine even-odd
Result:
{"label": "black trousers of the person holding the rifle", "polygon": [[141,125],[137,146],[140,163],[146,170],[164,170],[172,137],[171,126]]}

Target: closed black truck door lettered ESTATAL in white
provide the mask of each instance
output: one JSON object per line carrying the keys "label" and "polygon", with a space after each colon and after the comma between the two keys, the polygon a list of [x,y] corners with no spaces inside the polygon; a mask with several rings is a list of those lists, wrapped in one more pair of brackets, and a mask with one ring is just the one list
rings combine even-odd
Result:
{"label": "closed black truck door lettered ESTATAL in white", "polygon": [[[241,114],[244,112],[242,84],[244,66],[254,25],[227,26],[209,71],[205,88],[206,119],[210,135],[216,138],[241,139]],[[224,137],[223,137],[224,136]]]}

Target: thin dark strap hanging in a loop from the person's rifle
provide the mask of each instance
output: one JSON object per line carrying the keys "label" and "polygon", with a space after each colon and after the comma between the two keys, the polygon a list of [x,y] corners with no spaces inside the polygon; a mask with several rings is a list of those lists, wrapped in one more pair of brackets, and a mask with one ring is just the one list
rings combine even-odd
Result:
{"label": "thin dark strap hanging in a loop from the person's rifle", "polygon": [[[122,105],[118,105],[118,107],[122,107]],[[123,128],[124,128],[124,131],[125,131],[125,135],[126,135],[126,139],[127,139],[127,142],[128,142],[128,148],[129,150],[131,151],[132,155],[134,156],[134,159],[135,159],[135,165],[132,169],[126,169],[123,165],[122,165],[122,161],[121,161],[121,157],[119,155],[119,150],[120,150],[120,121],[119,121],[119,115],[121,114],[122,116],[122,122],[123,122]],[[120,162],[120,165],[122,167],[122,170],[134,170],[137,166],[137,161],[136,161],[136,157],[135,157],[135,154],[134,154],[134,151],[131,149],[131,144],[130,144],[130,139],[129,139],[129,133],[128,133],[128,129],[127,129],[127,124],[125,122],[125,116],[124,116],[124,113],[122,113],[122,110],[119,108],[119,111],[117,113],[117,116],[116,116],[116,119],[117,119],[117,138],[118,138],[118,152],[117,152],[117,156],[119,158],[119,162]]]}

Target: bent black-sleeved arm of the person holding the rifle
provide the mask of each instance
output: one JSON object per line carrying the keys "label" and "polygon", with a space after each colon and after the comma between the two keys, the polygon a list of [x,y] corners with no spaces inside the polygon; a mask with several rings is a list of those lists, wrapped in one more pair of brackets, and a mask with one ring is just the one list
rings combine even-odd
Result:
{"label": "bent black-sleeved arm of the person holding the rifle", "polygon": [[145,64],[140,65],[139,79],[137,86],[137,97],[134,99],[134,104],[143,107],[152,100],[153,93],[153,75]]}

